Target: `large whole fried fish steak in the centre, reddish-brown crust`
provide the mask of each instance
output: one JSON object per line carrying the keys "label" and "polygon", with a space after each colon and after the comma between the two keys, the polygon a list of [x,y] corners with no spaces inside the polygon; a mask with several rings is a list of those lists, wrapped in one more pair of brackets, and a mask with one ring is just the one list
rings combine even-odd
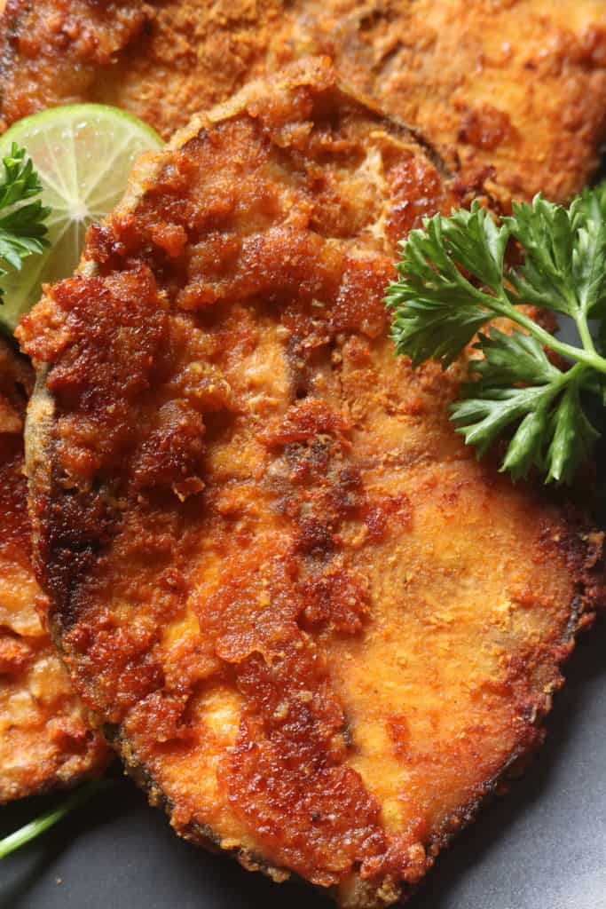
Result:
{"label": "large whole fried fish steak in the centre, reddish-brown crust", "polygon": [[394,244],[457,184],[326,58],[135,170],[18,335],[37,569],[177,833],[343,906],[412,891],[541,720],[601,534],[478,464],[412,371]]}

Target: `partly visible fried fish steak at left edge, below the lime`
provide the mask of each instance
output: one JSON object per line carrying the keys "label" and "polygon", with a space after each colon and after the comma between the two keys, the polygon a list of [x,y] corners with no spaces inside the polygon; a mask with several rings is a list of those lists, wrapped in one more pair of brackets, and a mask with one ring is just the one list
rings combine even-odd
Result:
{"label": "partly visible fried fish steak at left edge, below the lime", "polygon": [[36,613],[23,425],[33,371],[0,339],[0,804],[100,772],[108,749]]}

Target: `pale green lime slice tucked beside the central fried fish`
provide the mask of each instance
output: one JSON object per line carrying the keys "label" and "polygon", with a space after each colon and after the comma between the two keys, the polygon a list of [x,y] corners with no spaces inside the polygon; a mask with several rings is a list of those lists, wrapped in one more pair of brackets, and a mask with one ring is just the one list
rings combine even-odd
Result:
{"label": "pale green lime slice tucked beside the central fried fish", "polygon": [[43,282],[74,272],[86,228],[120,201],[137,155],[163,144],[151,126],[108,105],[66,105],[27,116],[0,138],[0,157],[14,142],[32,158],[51,214],[50,248],[0,281],[0,324],[10,331],[37,303]]}

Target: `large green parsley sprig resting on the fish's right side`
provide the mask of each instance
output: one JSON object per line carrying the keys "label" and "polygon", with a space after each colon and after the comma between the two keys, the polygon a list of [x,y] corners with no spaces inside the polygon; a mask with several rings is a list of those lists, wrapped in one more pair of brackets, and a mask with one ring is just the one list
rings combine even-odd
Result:
{"label": "large green parsley sprig resting on the fish's right side", "polygon": [[[522,265],[506,255],[513,243]],[[499,223],[474,202],[426,218],[400,247],[386,295],[397,353],[412,366],[433,359],[446,369],[478,335],[480,355],[470,358],[470,381],[452,405],[457,431],[479,457],[508,433],[501,469],[514,479],[537,469],[546,483],[570,483],[599,435],[587,396],[606,404],[606,184],[568,208],[537,195]],[[569,316],[581,345],[538,325],[524,304]],[[513,330],[488,325],[499,317]]]}

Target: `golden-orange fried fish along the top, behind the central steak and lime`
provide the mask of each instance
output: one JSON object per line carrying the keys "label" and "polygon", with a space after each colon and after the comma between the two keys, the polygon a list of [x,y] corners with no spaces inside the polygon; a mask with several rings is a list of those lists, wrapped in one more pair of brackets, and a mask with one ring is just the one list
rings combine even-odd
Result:
{"label": "golden-orange fried fish along the top, behind the central steak and lime", "polygon": [[578,192],[606,133],[602,0],[9,0],[5,125],[76,100],[165,137],[253,74],[327,53],[356,91],[420,127],[472,185]]}

